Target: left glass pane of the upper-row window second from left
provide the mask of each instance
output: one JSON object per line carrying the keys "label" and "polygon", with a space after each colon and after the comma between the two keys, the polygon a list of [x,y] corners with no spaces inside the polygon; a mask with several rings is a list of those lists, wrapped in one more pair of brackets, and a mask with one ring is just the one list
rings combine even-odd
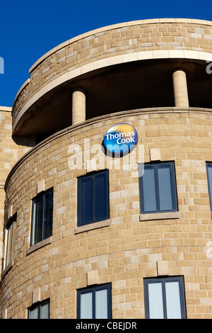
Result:
{"label": "left glass pane of the upper-row window second from left", "polygon": [[42,198],[36,199],[33,205],[33,244],[36,244],[42,240]]}

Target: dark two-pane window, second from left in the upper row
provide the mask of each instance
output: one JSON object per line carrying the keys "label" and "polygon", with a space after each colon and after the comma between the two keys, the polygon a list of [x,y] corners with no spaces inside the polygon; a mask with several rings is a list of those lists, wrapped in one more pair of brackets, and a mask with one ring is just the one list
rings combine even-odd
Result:
{"label": "dark two-pane window, second from left in the upper row", "polygon": [[31,246],[52,236],[53,189],[33,199]]}

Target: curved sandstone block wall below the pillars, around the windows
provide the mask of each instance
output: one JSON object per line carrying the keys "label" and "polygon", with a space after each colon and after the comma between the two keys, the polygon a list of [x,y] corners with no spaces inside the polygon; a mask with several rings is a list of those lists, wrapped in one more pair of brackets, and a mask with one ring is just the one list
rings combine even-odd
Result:
{"label": "curved sandstone block wall below the pillars, around the windows", "polygon": [[[87,170],[70,169],[70,147],[84,149],[85,139],[90,147],[100,145],[108,128],[121,122],[136,128],[145,162],[151,149],[161,161],[175,161],[179,218],[141,221],[139,179],[112,168],[110,224],[76,234],[77,177]],[[1,279],[1,313],[26,318],[40,290],[40,300],[50,299],[51,318],[76,318],[76,290],[95,276],[98,283],[112,283],[114,319],[144,318],[143,278],[165,269],[184,276],[187,317],[211,318],[211,128],[211,113],[202,109],[138,110],[72,126],[31,149],[6,181],[6,210],[13,205],[18,227],[13,266]],[[53,233],[48,244],[29,253],[32,198],[43,179],[46,189],[54,188]]]}

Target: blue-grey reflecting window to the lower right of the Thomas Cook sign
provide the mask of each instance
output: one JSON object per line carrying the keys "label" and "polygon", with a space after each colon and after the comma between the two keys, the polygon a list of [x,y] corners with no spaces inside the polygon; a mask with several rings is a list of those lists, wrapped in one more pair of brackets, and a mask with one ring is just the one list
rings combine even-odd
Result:
{"label": "blue-grey reflecting window to the lower right of the Thomas Cook sign", "polygon": [[141,213],[177,211],[174,162],[145,164],[139,178]]}

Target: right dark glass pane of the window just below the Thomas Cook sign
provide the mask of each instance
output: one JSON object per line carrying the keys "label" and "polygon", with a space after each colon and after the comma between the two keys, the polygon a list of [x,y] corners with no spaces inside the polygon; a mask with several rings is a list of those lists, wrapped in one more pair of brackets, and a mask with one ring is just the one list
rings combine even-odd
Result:
{"label": "right dark glass pane of the window just below the Thomas Cook sign", "polygon": [[107,218],[107,176],[95,176],[95,220]]}

